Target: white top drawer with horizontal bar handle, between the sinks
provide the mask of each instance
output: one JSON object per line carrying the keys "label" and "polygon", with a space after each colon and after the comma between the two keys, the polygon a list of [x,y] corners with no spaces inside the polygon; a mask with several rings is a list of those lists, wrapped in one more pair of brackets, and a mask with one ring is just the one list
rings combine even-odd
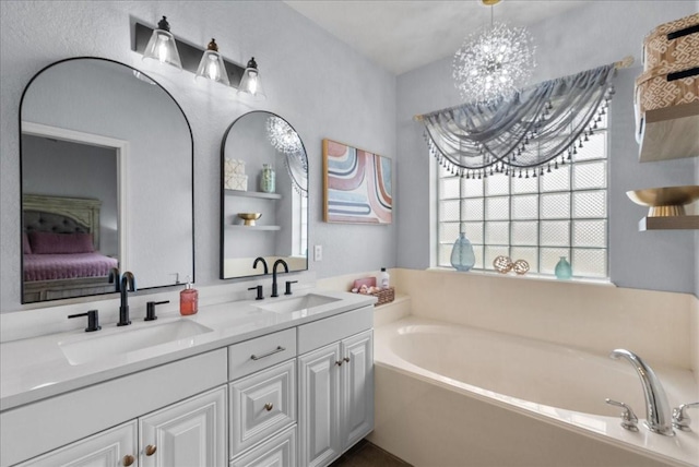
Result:
{"label": "white top drawer with horizontal bar handle, between the sinks", "polygon": [[228,347],[228,380],[237,380],[296,357],[296,330],[285,330]]}

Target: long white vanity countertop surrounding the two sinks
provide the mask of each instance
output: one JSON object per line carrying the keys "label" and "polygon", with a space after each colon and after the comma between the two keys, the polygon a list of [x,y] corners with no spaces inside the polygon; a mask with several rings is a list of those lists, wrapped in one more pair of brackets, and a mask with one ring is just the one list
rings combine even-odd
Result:
{"label": "long white vanity countertop surrounding the two sinks", "polygon": [[[256,307],[301,297],[308,292],[341,301],[287,313],[264,311]],[[156,321],[132,321],[131,325],[123,327],[107,324],[103,325],[102,331],[95,333],[85,333],[81,330],[4,343],[0,345],[0,410],[371,306],[375,302],[376,298],[371,296],[307,290],[292,297],[201,307],[199,312],[191,316],[163,313],[158,314]],[[106,337],[177,320],[192,320],[213,331],[76,366],[69,363],[59,346],[59,343],[70,339]]]}

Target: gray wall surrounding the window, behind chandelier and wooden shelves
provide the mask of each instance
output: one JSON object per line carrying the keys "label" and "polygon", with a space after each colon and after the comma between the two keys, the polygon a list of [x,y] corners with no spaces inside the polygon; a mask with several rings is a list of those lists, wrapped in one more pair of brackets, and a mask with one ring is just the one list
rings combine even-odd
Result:
{"label": "gray wall surrounding the window, behind chandelier and wooden shelves", "polygon": [[[530,28],[535,37],[537,68],[532,83],[577,73],[632,55],[632,69],[621,70],[612,103],[609,145],[609,272],[621,287],[699,294],[697,234],[639,232],[645,208],[631,203],[626,191],[639,188],[695,184],[697,158],[638,163],[633,137],[633,80],[640,74],[643,36],[656,25],[699,11],[695,1],[594,1],[565,17]],[[506,7],[503,7],[506,8]],[[487,19],[484,17],[484,22]],[[433,164],[413,116],[460,101],[451,80],[451,58],[398,77],[398,266],[430,265],[430,185]]]}

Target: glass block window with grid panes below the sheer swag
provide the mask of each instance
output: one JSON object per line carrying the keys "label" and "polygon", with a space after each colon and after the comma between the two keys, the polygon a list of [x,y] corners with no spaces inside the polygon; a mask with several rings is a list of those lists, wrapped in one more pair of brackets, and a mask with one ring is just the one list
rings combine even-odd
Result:
{"label": "glass block window with grid panes below the sheer swag", "polygon": [[533,177],[495,173],[483,179],[454,176],[437,165],[437,265],[451,267],[461,225],[476,256],[474,270],[495,271],[499,255],[525,260],[529,274],[554,275],[560,256],[574,278],[606,278],[607,119],[571,161]]}

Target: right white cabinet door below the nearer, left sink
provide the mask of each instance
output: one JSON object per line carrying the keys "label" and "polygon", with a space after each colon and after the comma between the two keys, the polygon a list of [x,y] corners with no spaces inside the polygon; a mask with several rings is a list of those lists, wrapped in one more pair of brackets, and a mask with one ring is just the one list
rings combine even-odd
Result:
{"label": "right white cabinet door below the nearer, left sink", "polygon": [[139,419],[141,467],[226,465],[226,386]]}

